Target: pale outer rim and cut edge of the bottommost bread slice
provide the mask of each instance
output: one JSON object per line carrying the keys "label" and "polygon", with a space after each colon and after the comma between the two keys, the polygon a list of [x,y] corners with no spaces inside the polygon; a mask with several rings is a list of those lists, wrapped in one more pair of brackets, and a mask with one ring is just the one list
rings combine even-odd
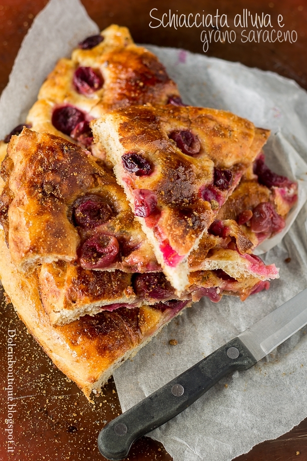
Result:
{"label": "pale outer rim and cut edge of the bottommost bread slice", "polygon": [[[87,363],[83,357],[78,363],[78,355],[69,351],[69,345],[60,339],[57,335],[56,328],[49,322],[49,318],[42,306],[37,278],[32,274],[26,276],[18,271],[12,261],[9,249],[5,243],[4,232],[0,231],[0,278],[5,292],[9,295],[12,304],[17,311],[21,320],[25,323],[27,329],[34,336],[37,342],[42,346],[45,352],[52,359],[54,364],[66,375],[72,379],[84,392],[90,400],[92,391],[97,393],[101,387],[106,384],[113,371],[118,368],[125,360],[133,357],[143,346],[145,346],[159,331],[168,324],[172,318],[181,314],[183,309],[176,313],[172,318],[165,319],[166,321],[158,323],[156,331],[149,336],[144,335],[144,339],[136,347],[131,347],[120,357],[113,360],[111,365],[101,367],[99,372],[96,372],[96,379],[87,378]],[[191,305],[191,302],[188,303]],[[83,351],[84,352],[84,351]],[[84,371],[85,377],[82,377]]]}

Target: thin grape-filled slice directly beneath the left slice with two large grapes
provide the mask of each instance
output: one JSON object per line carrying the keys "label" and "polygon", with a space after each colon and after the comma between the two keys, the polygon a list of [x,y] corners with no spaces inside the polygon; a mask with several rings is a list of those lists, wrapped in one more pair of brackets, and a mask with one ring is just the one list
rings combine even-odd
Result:
{"label": "thin grape-filled slice directly beneath the left slice with two large grapes", "polygon": [[[201,270],[201,266],[204,270]],[[189,285],[178,297],[163,272],[124,273],[89,271],[58,261],[38,269],[41,300],[50,322],[65,325],[85,315],[133,309],[144,304],[175,309],[185,301],[207,297],[213,302],[223,295],[244,301],[249,295],[269,288],[278,270],[254,255],[215,247],[202,264],[193,267]]]}

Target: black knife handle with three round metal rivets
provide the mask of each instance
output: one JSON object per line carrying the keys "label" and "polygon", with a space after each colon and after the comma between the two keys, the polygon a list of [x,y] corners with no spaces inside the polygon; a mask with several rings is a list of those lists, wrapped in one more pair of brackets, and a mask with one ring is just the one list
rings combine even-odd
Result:
{"label": "black knife handle with three round metal rivets", "polygon": [[101,454],[125,458],[134,440],[183,411],[228,372],[256,362],[239,338],[232,339],[107,424],[98,436]]}

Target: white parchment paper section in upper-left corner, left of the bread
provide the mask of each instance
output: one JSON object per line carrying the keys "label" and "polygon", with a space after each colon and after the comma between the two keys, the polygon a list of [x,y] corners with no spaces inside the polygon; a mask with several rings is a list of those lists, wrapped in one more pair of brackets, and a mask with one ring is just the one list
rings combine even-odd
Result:
{"label": "white parchment paper section in upper-left corner, left of the bread", "polygon": [[99,28],[77,0],[51,0],[35,18],[0,98],[0,139],[24,123],[39,89],[60,58]]}

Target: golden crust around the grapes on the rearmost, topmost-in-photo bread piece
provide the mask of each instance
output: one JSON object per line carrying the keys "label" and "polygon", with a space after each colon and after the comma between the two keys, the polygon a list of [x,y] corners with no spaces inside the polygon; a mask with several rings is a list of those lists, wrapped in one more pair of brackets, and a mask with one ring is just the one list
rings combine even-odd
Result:
{"label": "golden crust around the grapes on the rearmost, topmost-in-photo bread piece", "polygon": [[[135,104],[166,104],[170,96],[180,97],[176,84],[168,77],[157,57],[136,46],[127,28],[112,25],[102,31],[104,40],[90,50],[75,49],[72,59],[61,59],[43,83],[38,101],[30,109],[27,124],[34,131],[47,131],[70,139],[57,130],[53,112],[61,106],[81,110],[87,121],[99,118],[117,107]],[[79,67],[92,68],[103,82],[102,87],[82,94],[74,84]],[[83,146],[82,140],[74,141]],[[99,144],[88,144],[93,155],[104,159]]]}

